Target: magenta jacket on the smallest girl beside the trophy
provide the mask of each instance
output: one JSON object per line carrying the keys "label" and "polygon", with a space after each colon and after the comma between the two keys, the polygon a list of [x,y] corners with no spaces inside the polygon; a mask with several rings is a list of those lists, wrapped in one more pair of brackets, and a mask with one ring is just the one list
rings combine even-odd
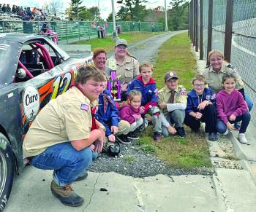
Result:
{"label": "magenta jacket on the smallest girl beside the trophy", "polygon": [[124,106],[118,111],[118,117],[130,124],[136,121],[135,117],[138,115],[140,115],[140,108],[134,109],[130,104],[128,106]]}

